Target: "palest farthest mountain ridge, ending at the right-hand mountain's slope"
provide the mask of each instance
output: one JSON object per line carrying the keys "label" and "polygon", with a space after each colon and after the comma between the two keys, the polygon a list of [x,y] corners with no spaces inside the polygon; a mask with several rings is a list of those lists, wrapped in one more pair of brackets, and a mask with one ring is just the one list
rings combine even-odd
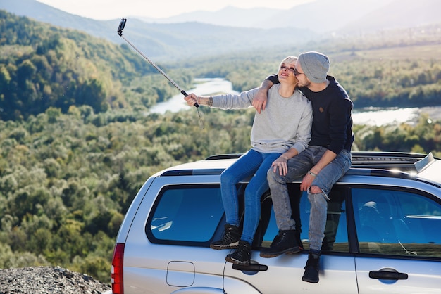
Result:
{"label": "palest farthest mountain ridge, ending at the right-hand mountain's slope", "polygon": [[[371,11],[379,9],[392,0],[366,0],[359,2],[347,0],[319,0],[300,4],[287,9],[236,8],[225,7],[219,11],[194,11],[182,13],[170,18],[142,18],[147,23],[183,23],[197,20],[211,25],[228,25],[232,27],[276,28],[296,27],[309,28],[314,32],[338,30],[343,25],[361,18]],[[225,21],[228,20],[228,21]]]}

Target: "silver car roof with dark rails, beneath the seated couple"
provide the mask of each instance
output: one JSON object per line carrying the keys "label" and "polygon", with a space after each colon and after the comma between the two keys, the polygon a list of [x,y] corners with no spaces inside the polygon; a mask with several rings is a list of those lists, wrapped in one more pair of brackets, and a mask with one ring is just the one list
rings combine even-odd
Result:
{"label": "silver car roof with dark rails, beneath the seated couple", "polygon": [[[156,176],[221,174],[240,155],[242,154],[212,155],[205,160],[169,167]],[[432,153],[356,151],[352,152],[352,166],[348,174],[414,179],[441,188],[441,160]]]}

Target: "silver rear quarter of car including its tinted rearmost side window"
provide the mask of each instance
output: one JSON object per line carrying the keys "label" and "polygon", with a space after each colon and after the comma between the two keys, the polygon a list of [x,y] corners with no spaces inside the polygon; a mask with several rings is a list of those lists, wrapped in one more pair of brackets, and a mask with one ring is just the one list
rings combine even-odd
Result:
{"label": "silver rear quarter of car including its tinted rearmost side window", "polygon": [[220,186],[193,183],[151,184],[125,242],[124,293],[223,293],[225,257],[209,248],[223,217]]}

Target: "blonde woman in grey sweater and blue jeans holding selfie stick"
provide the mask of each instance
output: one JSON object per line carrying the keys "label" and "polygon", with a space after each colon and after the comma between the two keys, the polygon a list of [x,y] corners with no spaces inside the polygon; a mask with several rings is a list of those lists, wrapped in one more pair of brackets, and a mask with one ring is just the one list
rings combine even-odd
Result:
{"label": "blonde woman in grey sweater and blue jeans holding selfie stick", "polygon": [[[273,162],[280,157],[287,160],[304,151],[311,139],[312,108],[309,100],[297,89],[294,76],[296,61],[297,57],[288,56],[280,63],[280,84],[268,91],[265,110],[254,115],[251,149],[221,174],[221,194],[227,224],[221,240],[211,243],[210,247],[237,248],[225,258],[228,262],[249,264],[251,244],[259,224],[261,196],[269,188],[266,174]],[[221,109],[249,108],[258,90],[210,97],[190,94],[185,100],[190,106],[199,103]],[[236,184],[251,176],[245,189],[241,236]]]}

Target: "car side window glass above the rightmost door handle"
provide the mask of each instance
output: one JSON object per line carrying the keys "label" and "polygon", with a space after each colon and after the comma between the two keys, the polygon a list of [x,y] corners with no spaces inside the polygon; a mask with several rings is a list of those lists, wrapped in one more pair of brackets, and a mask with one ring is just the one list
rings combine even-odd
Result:
{"label": "car side window glass above the rightmost door handle", "polygon": [[441,204],[413,191],[352,189],[360,253],[441,257]]}

